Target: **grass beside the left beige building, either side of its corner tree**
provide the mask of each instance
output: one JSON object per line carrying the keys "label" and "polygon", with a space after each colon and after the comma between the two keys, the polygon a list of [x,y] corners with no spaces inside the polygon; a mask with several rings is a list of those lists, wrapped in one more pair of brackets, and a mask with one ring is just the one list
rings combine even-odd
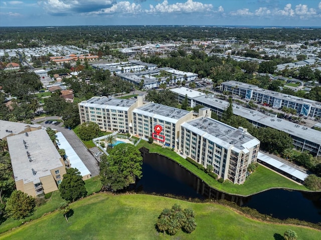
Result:
{"label": "grass beside the left beige building, either side of its corner tree", "polygon": [[[99,179],[99,176],[95,176],[93,178],[90,178],[85,181],[85,187],[87,189],[87,195],[91,195],[93,192],[98,192],[101,189],[101,181]],[[57,209],[59,204],[63,201],[63,199],[60,197],[59,190],[54,191],[51,195],[51,197],[46,201],[45,204],[36,207],[36,210],[34,214],[30,217],[27,217],[23,220],[15,220],[13,218],[8,218],[6,221],[0,224],[0,232],[8,231],[9,229],[12,229],[14,227],[20,226],[21,223],[35,220],[39,217],[41,217],[43,214],[54,211]],[[1,236],[0,236],[1,238]],[[27,239],[27,238],[26,238]],[[32,239],[32,238],[29,238]]]}

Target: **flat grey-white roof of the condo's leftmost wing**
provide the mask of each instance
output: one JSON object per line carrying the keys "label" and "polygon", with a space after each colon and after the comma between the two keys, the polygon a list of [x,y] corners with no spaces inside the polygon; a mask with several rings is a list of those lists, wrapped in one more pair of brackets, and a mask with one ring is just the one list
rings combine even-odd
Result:
{"label": "flat grey-white roof of the condo's leftmost wing", "polygon": [[89,100],[82,101],[80,105],[95,107],[95,108],[105,108],[107,106],[129,108],[134,103],[135,103],[135,100],[108,98],[108,97],[92,97]]}

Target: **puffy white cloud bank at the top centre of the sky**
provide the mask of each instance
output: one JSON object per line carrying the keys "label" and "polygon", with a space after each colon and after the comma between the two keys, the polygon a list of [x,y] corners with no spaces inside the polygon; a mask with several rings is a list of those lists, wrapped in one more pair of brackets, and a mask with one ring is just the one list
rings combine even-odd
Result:
{"label": "puffy white cloud bank at the top centre of the sky", "polygon": [[[161,4],[157,4],[155,7],[149,5],[149,10],[146,13],[204,13],[213,9],[212,4],[202,4],[200,2],[193,2],[188,0],[186,3],[170,4],[165,0]],[[223,8],[222,8],[223,9]]]}

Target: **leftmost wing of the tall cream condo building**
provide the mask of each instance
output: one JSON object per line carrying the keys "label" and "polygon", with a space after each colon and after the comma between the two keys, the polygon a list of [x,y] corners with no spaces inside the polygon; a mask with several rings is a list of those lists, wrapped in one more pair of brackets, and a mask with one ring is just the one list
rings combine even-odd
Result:
{"label": "leftmost wing of the tall cream condo building", "polygon": [[102,131],[131,132],[132,110],[142,105],[142,96],[137,101],[110,97],[92,97],[78,104],[80,122],[94,122]]}

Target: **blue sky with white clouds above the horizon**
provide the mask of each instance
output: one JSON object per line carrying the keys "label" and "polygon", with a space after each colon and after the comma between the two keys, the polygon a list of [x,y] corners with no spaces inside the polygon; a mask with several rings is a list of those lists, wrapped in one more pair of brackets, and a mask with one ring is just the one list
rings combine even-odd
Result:
{"label": "blue sky with white clouds above the horizon", "polygon": [[320,0],[0,0],[0,26],[321,27]]}

